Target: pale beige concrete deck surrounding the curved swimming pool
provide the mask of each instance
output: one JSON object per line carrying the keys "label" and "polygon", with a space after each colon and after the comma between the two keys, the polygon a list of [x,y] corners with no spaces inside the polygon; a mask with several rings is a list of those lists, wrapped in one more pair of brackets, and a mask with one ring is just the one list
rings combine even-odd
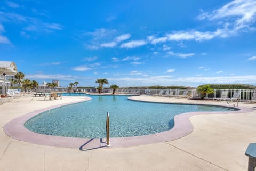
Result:
{"label": "pale beige concrete deck surrounding the curved swimming pool", "polygon": [[[132,98],[231,106],[226,102],[169,97]],[[241,111],[193,115],[189,120],[194,129],[187,136],[146,145],[142,145],[145,143],[142,141],[140,145],[120,147],[110,138],[111,148],[84,148],[86,141],[81,148],[61,148],[19,141],[5,134],[4,125],[15,118],[52,106],[83,101],[85,97],[63,96],[62,100],[55,101],[43,99],[28,94],[0,105],[0,170],[247,170],[248,157],[244,153],[249,143],[256,142],[255,103],[238,103],[243,109]]]}

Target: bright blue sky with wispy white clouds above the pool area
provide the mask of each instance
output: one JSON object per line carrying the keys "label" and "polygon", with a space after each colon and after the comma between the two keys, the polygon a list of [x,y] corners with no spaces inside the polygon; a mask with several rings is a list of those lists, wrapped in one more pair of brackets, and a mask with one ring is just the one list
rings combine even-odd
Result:
{"label": "bright blue sky with wispy white clouds above the pool area", "polygon": [[0,60],[98,86],[256,85],[256,1],[1,1]]}

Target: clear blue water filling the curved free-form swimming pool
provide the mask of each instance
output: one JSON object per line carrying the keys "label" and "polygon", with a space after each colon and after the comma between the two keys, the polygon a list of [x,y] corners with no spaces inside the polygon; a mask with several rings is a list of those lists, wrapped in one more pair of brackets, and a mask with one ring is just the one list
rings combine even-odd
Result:
{"label": "clear blue water filling the curved free-form swimming pool", "polygon": [[[74,95],[74,94],[63,94]],[[87,96],[85,94],[75,94]],[[45,111],[24,124],[30,131],[67,137],[106,137],[106,115],[110,115],[110,136],[140,136],[167,131],[175,115],[192,111],[235,109],[189,104],[137,102],[127,96],[90,96],[91,101]]]}

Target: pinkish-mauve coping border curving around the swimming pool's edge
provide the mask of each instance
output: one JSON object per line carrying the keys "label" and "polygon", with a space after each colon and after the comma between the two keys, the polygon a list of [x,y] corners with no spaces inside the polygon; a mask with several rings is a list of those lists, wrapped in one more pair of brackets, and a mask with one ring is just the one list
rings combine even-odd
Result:
{"label": "pinkish-mauve coping border curving around the swimming pool's edge", "polygon": [[[90,97],[89,97],[90,98]],[[129,98],[130,99],[130,98]],[[89,101],[91,99],[85,99],[78,102],[64,103],[59,105],[54,105],[52,107],[47,107],[44,109],[36,110],[33,112],[29,112],[26,115],[15,118],[9,123],[4,125],[4,132],[7,136],[12,137],[13,139],[24,141],[28,143],[38,144],[38,145],[47,145],[47,146],[55,146],[61,148],[79,148],[80,150],[90,150],[90,149],[98,149],[106,147],[106,139],[88,139],[88,138],[74,138],[74,137],[62,137],[62,136],[53,136],[53,135],[44,135],[38,134],[32,131],[29,131],[24,127],[24,123],[47,110],[51,110],[54,108],[62,107],[64,105],[79,103]],[[133,99],[130,99],[133,100]],[[141,100],[134,100],[141,101]],[[148,102],[148,101],[145,101]],[[180,104],[180,103],[179,103]],[[182,103],[187,104],[187,103]],[[198,104],[205,105],[205,104]],[[216,105],[215,105],[216,106]],[[220,107],[227,106],[217,105]],[[133,137],[112,137],[110,135],[110,148],[123,148],[129,146],[137,146],[137,145],[146,145],[153,144],[159,142],[172,141],[176,139],[180,139],[191,132],[193,132],[193,125],[191,124],[189,118],[195,115],[208,115],[208,114],[236,114],[236,113],[247,113],[252,112],[252,109],[235,107],[239,110],[237,111],[228,111],[228,112],[187,112],[176,115],[174,117],[174,127],[168,131],[164,131],[161,133],[144,135],[144,136],[133,136]],[[109,147],[108,147],[109,148]]]}

